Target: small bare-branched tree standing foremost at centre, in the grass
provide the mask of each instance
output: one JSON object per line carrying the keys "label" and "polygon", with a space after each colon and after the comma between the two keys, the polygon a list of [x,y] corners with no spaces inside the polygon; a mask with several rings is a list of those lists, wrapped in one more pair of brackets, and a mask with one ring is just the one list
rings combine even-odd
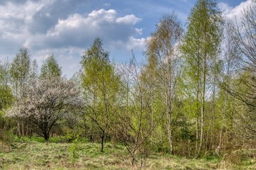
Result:
{"label": "small bare-branched tree standing foremost at centre, in the grass", "polygon": [[[151,94],[147,88],[145,79],[141,79],[140,67],[133,55],[130,64],[122,67],[123,73],[123,93],[121,94],[121,111],[118,117],[121,123],[126,128],[123,136],[126,138],[126,148],[131,157],[132,165],[138,162],[138,157],[141,160],[140,166],[143,164],[143,159],[148,157],[150,149],[148,149],[149,138],[157,125],[162,120],[165,112],[154,115],[154,121],[149,121],[151,116],[149,103]],[[158,111],[158,110],[157,110]]]}

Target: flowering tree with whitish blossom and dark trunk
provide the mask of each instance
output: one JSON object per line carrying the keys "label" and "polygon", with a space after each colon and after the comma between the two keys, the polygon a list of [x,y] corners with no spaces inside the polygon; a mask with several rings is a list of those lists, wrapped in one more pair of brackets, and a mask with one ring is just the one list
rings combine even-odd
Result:
{"label": "flowering tree with whitish blossom and dark trunk", "polygon": [[49,140],[50,130],[58,120],[82,106],[79,90],[73,81],[65,78],[38,79],[26,86],[23,94],[23,98],[14,104],[8,115],[31,120],[45,140]]}

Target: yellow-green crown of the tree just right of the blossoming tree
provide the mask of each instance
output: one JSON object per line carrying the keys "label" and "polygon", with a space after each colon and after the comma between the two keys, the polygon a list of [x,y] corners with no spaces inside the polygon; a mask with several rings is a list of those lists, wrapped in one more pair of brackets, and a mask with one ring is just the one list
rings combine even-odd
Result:
{"label": "yellow-green crown of the tree just right of the blossoming tree", "polygon": [[[118,90],[118,77],[114,72],[114,67],[108,58],[108,52],[102,48],[100,38],[96,38],[82,57],[82,86],[89,92],[111,94],[111,91]],[[110,90],[110,91],[109,91]],[[109,91],[109,92],[108,92]],[[114,95],[111,94],[113,97]],[[111,98],[109,96],[108,98]],[[113,98],[114,99],[114,98]]]}

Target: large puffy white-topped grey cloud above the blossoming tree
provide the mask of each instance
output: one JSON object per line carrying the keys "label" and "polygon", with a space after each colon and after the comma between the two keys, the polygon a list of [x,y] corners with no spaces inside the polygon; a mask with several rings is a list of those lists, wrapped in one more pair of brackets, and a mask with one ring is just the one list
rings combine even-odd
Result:
{"label": "large puffy white-topped grey cloud above the blossoming tree", "polygon": [[87,47],[94,38],[104,42],[128,42],[131,37],[141,35],[142,28],[133,28],[140,21],[134,15],[118,17],[117,11],[100,9],[87,16],[74,13],[59,19],[46,34],[35,35],[26,40],[28,47]]}

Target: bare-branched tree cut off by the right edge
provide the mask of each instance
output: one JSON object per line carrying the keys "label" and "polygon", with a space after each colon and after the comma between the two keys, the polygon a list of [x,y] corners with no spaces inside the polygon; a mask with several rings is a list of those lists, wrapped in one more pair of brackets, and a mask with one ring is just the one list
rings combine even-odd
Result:
{"label": "bare-branched tree cut off by the right edge", "polygon": [[[237,105],[243,110],[238,113],[241,125],[237,131],[241,131],[240,135],[246,136],[249,139],[255,139],[255,74],[256,74],[256,1],[252,0],[252,4],[245,8],[241,18],[241,26],[237,23],[237,28],[234,33],[235,47],[241,53],[238,58],[238,70],[240,74],[233,79],[233,86],[223,85],[231,96],[238,99]],[[243,130],[240,130],[243,129]]]}

